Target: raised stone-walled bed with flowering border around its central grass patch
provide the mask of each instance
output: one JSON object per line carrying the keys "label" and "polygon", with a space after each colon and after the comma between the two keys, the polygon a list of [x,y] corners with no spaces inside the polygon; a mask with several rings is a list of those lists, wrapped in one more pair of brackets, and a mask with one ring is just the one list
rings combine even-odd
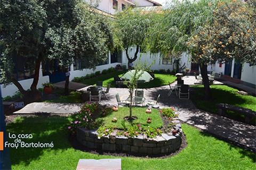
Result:
{"label": "raised stone-walled bed with flowering border around its central grass patch", "polygon": [[[146,125],[144,122],[126,126],[125,120],[119,119],[114,119],[114,125],[117,121],[122,121],[123,128],[120,126],[117,128],[112,124],[110,124],[112,126],[106,126],[102,124],[102,119],[98,118],[117,113],[117,111],[112,113],[110,110],[95,103],[87,103],[78,114],[73,116],[73,121],[68,128],[76,135],[79,143],[86,148],[100,151],[154,156],[167,155],[180,148],[182,129],[179,120],[174,118],[177,115],[173,108],[153,110],[155,115],[151,116],[155,119],[157,119],[156,116],[162,117],[164,124],[161,128],[151,127],[151,124]],[[140,110],[146,110],[146,108],[140,108]],[[143,117],[143,114],[140,114]],[[113,123],[113,119],[107,120]]]}

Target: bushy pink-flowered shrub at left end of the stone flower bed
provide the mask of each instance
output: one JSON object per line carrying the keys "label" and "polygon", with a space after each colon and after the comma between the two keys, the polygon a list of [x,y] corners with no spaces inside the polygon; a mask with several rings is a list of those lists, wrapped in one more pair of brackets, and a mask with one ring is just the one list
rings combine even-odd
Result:
{"label": "bushy pink-flowered shrub at left end of the stone flower bed", "polygon": [[71,116],[71,122],[68,126],[71,133],[76,132],[76,127],[84,127],[87,129],[96,128],[99,126],[99,122],[95,121],[95,112],[99,105],[96,103],[85,103],[81,110],[77,114]]}

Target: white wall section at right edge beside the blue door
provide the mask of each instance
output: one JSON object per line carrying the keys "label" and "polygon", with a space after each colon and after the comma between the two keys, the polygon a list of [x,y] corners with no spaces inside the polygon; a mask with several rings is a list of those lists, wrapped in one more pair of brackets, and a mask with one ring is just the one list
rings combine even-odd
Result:
{"label": "white wall section at right edge beside the blue door", "polygon": [[250,66],[249,63],[244,63],[241,80],[256,85],[256,66]]}

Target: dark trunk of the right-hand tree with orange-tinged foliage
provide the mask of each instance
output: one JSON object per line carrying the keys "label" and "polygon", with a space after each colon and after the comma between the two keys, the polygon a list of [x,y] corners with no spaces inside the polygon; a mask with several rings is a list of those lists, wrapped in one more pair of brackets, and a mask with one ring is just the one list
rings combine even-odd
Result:
{"label": "dark trunk of the right-hand tree with orange-tinged foliage", "polygon": [[209,77],[207,75],[207,65],[200,64],[200,70],[201,70],[201,75],[202,75],[203,84],[204,84],[205,99],[210,100],[211,99],[211,91],[210,91]]}

